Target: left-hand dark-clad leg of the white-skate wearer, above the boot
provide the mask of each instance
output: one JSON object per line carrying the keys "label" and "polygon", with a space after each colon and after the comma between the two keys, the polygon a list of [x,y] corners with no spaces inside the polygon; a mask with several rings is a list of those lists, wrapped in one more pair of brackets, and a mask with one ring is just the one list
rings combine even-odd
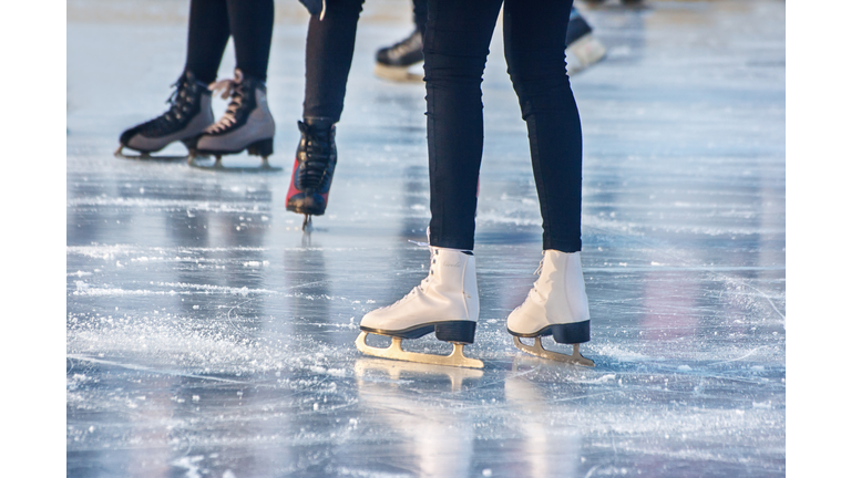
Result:
{"label": "left-hand dark-clad leg of the white-skate wearer, above the boot", "polygon": [[426,102],[431,245],[473,249],[482,162],[482,73],[500,0],[430,0]]}

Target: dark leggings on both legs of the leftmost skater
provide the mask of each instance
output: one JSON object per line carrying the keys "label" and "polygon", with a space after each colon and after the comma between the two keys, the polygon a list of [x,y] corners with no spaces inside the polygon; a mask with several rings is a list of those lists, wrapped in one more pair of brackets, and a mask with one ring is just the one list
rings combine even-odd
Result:
{"label": "dark leggings on both legs of the leftmost skater", "polygon": [[186,70],[202,82],[214,82],[233,34],[236,67],[266,81],[274,21],[273,0],[192,0]]}

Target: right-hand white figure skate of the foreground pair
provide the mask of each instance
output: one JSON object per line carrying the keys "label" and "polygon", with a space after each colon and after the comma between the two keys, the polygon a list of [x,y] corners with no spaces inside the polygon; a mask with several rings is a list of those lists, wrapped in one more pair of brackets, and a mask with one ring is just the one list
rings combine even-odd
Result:
{"label": "right-hand white figure skate of the foreground pair", "polygon": [[[594,366],[580,353],[580,343],[591,340],[591,313],[580,252],[544,251],[537,271],[541,277],[522,305],[509,315],[509,333],[523,352],[558,362]],[[556,343],[573,344],[573,354],[544,350],[541,337],[552,335]],[[530,346],[520,337],[534,337]]]}

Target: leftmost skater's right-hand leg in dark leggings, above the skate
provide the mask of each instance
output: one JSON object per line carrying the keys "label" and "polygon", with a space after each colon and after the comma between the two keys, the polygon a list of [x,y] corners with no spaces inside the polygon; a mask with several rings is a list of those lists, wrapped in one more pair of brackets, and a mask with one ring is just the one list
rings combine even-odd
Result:
{"label": "leftmost skater's right-hand leg in dark leggings, above the skate", "polygon": [[227,14],[236,50],[236,67],[243,74],[266,81],[275,21],[273,0],[227,0]]}

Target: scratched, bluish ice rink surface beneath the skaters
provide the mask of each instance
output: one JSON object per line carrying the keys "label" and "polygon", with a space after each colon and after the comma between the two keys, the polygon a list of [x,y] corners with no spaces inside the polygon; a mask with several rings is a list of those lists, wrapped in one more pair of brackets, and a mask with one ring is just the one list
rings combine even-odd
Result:
{"label": "scratched, bluish ice rink surface beneath the skaters", "polygon": [[[122,129],[165,110],[187,2],[69,1],[68,476],[783,476],[786,3],[578,7],[608,49],[573,77],[596,367],[523,355],[505,332],[542,229],[498,30],[472,371],[355,349],[363,313],[428,270],[409,242],[429,220],[424,87],[372,75],[375,51],[412,28],[407,1],[365,6],[309,235],[285,210],[295,0],[277,3],[268,81],[285,170],[266,175],[114,158]],[[233,65],[228,46],[222,77]]]}

